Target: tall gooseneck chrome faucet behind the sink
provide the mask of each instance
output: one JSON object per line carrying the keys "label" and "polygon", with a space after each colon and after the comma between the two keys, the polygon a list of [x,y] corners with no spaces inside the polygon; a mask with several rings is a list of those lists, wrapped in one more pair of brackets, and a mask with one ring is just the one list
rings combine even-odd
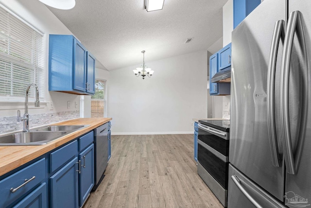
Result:
{"label": "tall gooseneck chrome faucet behind the sink", "polygon": [[29,114],[28,114],[28,93],[31,86],[35,88],[35,107],[40,107],[39,90],[36,84],[31,83],[27,86],[25,92],[25,113],[20,117],[20,111],[17,111],[17,121],[23,122],[23,132],[29,132]]}

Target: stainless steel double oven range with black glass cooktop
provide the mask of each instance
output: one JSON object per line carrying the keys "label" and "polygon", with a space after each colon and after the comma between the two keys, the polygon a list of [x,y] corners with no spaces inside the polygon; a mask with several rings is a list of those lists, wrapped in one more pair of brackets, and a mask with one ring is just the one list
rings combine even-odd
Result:
{"label": "stainless steel double oven range with black glass cooktop", "polygon": [[229,120],[199,120],[198,174],[227,207]]}

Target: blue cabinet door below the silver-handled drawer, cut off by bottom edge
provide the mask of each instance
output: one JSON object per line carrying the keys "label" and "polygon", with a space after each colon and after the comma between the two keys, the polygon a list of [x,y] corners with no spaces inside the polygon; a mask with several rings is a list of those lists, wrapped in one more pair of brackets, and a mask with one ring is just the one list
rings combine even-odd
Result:
{"label": "blue cabinet door below the silver-handled drawer, cut off by bottom edge", "polygon": [[47,185],[41,184],[13,208],[47,208]]}

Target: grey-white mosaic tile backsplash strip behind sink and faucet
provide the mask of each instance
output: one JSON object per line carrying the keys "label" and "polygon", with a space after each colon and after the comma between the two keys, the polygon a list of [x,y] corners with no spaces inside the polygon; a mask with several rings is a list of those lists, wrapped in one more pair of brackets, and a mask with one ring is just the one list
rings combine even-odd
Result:
{"label": "grey-white mosaic tile backsplash strip behind sink and faucet", "polygon": [[[30,114],[30,128],[48,125],[69,119],[79,118],[80,111],[64,111],[57,113]],[[23,130],[23,122],[16,121],[17,116],[0,117],[0,134]]]}

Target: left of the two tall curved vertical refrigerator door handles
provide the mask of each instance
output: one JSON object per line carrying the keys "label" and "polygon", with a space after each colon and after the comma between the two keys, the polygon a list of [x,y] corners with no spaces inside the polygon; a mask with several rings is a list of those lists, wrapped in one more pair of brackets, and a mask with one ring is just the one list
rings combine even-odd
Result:
{"label": "left of the two tall curved vertical refrigerator door handles", "polygon": [[270,141],[270,149],[272,154],[272,164],[276,167],[281,166],[281,160],[279,156],[277,139],[276,139],[276,118],[275,118],[275,79],[276,79],[276,59],[279,41],[284,43],[285,38],[285,22],[284,20],[276,21],[270,57],[268,66],[268,81],[267,81],[267,117],[268,117],[268,135]]}

